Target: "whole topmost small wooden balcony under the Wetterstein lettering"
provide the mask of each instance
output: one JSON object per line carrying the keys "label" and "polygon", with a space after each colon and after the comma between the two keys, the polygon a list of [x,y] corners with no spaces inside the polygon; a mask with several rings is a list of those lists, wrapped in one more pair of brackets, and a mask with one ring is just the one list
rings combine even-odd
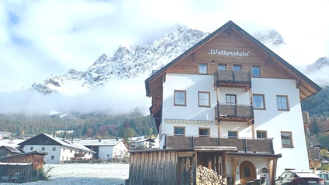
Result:
{"label": "whole topmost small wooden balcony under the Wetterstein lettering", "polygon": [[251,89],[250,71],[217,69],[214,75],[214,86],[244,88],[247,92]]}

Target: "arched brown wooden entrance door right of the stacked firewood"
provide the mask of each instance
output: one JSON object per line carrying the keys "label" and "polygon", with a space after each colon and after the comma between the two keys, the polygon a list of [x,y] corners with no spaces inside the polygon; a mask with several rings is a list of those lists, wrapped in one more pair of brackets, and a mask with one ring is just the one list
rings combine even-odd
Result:
{"label": "arched brown wooden entrance door right of the stacked firewood", "polygon": [[239,169],[241,184],[246,184],[246,182],[256,179],[256,169],[252,162],[248,160],[241,162]]}

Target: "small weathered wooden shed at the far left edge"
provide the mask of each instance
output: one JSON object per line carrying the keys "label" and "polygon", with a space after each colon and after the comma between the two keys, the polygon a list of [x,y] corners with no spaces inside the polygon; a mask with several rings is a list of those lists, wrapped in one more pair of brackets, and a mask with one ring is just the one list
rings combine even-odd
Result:
{"label": "small weathered wooden shed at the far left edge", "polygon": [[[30,182],[34,177],[39,177],[39,171],[44,164],[44,151],[32,151],[22,154],[0,158],[0,176],[10,175],[15,172],[23,172],[24,182]],[[30,167],[31,166],[31,167]]]}

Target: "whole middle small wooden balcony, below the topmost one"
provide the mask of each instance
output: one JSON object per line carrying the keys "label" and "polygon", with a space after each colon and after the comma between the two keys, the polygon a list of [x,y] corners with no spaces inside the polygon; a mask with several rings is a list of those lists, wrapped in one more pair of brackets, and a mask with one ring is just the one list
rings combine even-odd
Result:
{"label": "whole middle small wooden balcony, below the topmost one", "polygon": [[220,104],[215,107],[215,119],[228,122],[247,122],[254,120],[254,109],[252,105]]}

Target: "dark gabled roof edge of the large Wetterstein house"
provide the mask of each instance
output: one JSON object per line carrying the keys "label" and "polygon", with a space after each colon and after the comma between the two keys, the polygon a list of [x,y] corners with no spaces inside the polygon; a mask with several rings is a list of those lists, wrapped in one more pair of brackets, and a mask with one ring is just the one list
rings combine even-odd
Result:
{"label": "dark gabled roof edge of the large Wetterstein house", "polygon": [[288,62],[286,62],[285,60],[283,60],[281,57],[279,57],[277,54],[275,54],[273,51],[271,51],[269,48],[267,48],[265,45],[263,45],[256,38],[254,38],[253,36],[251,36],[249,33],[247,33],[246,31],[244,31],[242,28],[240,28],[239,26],[237,26],[235,23],[233,23],[232,21],[229,21],[226,24],[224,24],[222,27],[220,27],[219,29],[217,29],[216,31],[212,32],[211,34],[209,34],[208,36],[206,36],[204,39],[202,39],[201,41],[199,41],[196,45],[192,46],[190,49],[188,49],[187,51],[185,51],[183,54],[181,54],[180,56],[178,56],[176,59],[174,59],[173,61],[171,61],[168,64],[166,64],[163,68],[161,68],[160,70],[158,70],[157,72],[155,72],[154,74],[152,74],[149,78],[147,78],[145,80],[146,96],[149,96],[149,94],[150,94],[149,88],[148,88],[148,82],[150,82],[152,79],[154,79],[158,75],[160,75],[163,72],[165,72],[166,69],[168,69],[169,67],[171,67],[172,65],[174,65],[176,62],[178,62],[181,59],[183,59],[184,57],[190,55],[199,46],[201,46],[204,43],[208,42],[209,40],[211,40],[211,38],[217,36],[219,33],[221,33],[222,31],[225,31],[226,29],[228,29],[230,27],[233,28],[234,30],[239,31],[240,33],[242,33],[246,38],[250,39],[258,47],[260,47],[264,51],[266,51],[269,56],[271,56],[271,57],[275,58],[277,61],[281,62],[291,72],[293,72],[300,79],[302,79],[305,82],[307,82],[308,84],[310,84],[317,91],[321,91],[322,90],[322,88],[320,86],[318,86],[316,83],[314,83],[308,77],[306,77],[304,74],[302,74],[301,72],[299,72],[294,66],[292,66],[291,64],[289,64]]}

